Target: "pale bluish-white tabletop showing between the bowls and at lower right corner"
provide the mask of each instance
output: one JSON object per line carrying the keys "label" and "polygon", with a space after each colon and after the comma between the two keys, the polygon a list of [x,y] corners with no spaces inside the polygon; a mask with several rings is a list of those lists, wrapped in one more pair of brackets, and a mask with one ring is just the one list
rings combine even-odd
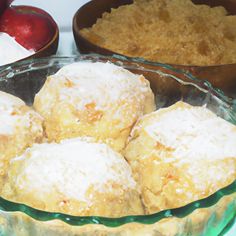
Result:
{"label": "pale bluish-white tabletop showing between the bowls and at lower right corner", "polygon": [[[49,12],[57,22],[60,30],[60,41],[57,55],[71,56],[79,55],[72,33],[72,18],[77,9],[82,6],[87,0],[50,0],[40,1],[34,0],[15,0],[14,5],[32,5],[40,7]],[[64,11],[62,12],[63,9]],[[236,236],[236,221],[234,226],[224,234],[224,236]]]}

